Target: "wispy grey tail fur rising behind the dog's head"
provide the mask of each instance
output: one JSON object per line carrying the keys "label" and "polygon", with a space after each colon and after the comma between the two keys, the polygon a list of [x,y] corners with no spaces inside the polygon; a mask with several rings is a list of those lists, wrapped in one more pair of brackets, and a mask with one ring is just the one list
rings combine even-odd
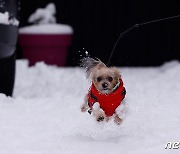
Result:
{"label": "wispy grey tail fur rising behind the dog's head", "polygon": [[100,69],[102,67],[106,67],[106,65],[102,61],[100,61],[99,59],[93,59],[90,57],[82,58],[80,66],[85,68],[87,78],[89,78],[90,74],[92,73],[92,71],[95,67],[97,69]]}

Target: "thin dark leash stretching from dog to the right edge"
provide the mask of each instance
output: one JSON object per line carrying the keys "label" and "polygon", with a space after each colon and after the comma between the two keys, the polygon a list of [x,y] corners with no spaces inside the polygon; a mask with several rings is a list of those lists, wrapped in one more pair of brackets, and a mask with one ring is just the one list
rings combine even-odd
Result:
{"label": "thin dark leash stretching from dog to the right edge", "polygon": [[177,16],[172,16],[172,17],[167,17],[167,18],[161,18],[161,19],[157,19],[157,20],[152,20],[152,21],[148,21],[148,22],[143,22],[143,23],[140,23],[140,24],[135,24],[134,26],[130,27],[129,29],[123,31],[122,33],[120,33],[116,43],[114,44],[114,47],[111,51],[111,54],[109,56],[109,60],[108,60],[108,63],[107,63],[107,66],[110,65],[110,62],[111,62],[111,59],[112,59],[112,56],[114,54],[114,51],[116,49],[116,46],[117,44],[119,43],[119,40],[121,38],[123,38],[123,36],[125,36],[127,33],[129,33],[130,31],[136,29],[136,28],[139,28],[141,26],[145,26],[145,25],[148,25],[148,24],[153,24],[153,23],[157,23],[157,22],[161,22],[161,21],[165,21],[165,20],[170,20],[170,19],[175,19],[175,18],[180,18],[180,15],[177,15]]}

